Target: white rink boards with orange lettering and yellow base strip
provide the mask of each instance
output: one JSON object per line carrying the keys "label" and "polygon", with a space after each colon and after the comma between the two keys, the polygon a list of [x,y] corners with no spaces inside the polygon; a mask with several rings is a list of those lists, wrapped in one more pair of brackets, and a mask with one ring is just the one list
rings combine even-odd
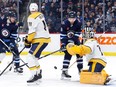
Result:
{"label": "white rink boards with orange lettering and yellow base strip", "polygon": [[[25,36],[26,34],[19,35],[19,38],[17,40],[19,50],[21,50],[24,47]],[[50,34],[50,37],[51,42],[42,53],[43,55],[60,49],[60,34]],[[116,34],[96,34],[96,39],[100,43],[101,49],[106,56],[116,56]],[[27,53],[28,49],[25,49],[22,52],[22,55],[26,55]],[[62,52],[57,52],[54,55],[62,55],[62,54],[63,54]]]}

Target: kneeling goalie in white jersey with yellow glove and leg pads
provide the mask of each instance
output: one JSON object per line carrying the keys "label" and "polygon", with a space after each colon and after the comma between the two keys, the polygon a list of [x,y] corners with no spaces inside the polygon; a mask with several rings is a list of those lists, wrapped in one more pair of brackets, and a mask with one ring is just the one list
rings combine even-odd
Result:
{"label": "kneeling goalie in white jersey with yellow glove and leg pads", "polygon": [[85,56],[89,69],[83,70],[80,74],[80,82],[88,84],[107,84],[111,79],[103,70],[106,66],[106,58],[103,56],[99,43],[94,39],[94,32],[88,33],[88,39],[84,45],[69,43],[66,48],[69,54]]}

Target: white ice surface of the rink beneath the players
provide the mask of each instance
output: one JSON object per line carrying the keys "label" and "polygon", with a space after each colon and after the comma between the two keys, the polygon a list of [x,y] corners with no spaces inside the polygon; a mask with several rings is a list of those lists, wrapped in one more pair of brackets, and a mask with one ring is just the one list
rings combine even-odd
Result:
{"label": "white ice surface of the rink beneath the players", "polygon": [[[27,56],[21,56],[26,62]],[[107,66],[105,70],[116,79],[116,57],[106,57]],[[6,56],[0,65],[2,71],[8,63],[12,60],[12,56]],[[71,63],[75,62],[75,56],[72,57]],[[17,74],[8,71],[0,76],[0,87],[116,87],[116,82],[111,85],[93,85],[93,84],[81,84],[79,82],[79,74],[76,68],[76,63],[69,69],[69,74],[72,76],[71,80],[61,80],[61,68],[62,68],[63,55],[56,56],[50,55],[43,59],[40,59],[40,65],[42,68],[42,80],[38,85],[27,85],[26,81],[30,77],[30,72],[26,66],[23,67],[24,73]],[[22,64],[22,62],[21,62]],[[54,67],[57,67],[55,69]],[[86,59],[84,58],[84,69],[87,69]]]}

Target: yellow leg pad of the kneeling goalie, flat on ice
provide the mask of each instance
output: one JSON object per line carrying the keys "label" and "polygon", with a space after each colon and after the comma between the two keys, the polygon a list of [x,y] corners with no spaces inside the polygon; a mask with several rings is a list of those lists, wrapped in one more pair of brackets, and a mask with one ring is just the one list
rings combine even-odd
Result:
{"label": "yellow leg pad of the kneeling goalie, flat on ice", "polygon": [[108,74],[105,70],[102,72],[88,72],[88,70],[83,70],[80,74],[80,83],[104,85],[107,77]]}

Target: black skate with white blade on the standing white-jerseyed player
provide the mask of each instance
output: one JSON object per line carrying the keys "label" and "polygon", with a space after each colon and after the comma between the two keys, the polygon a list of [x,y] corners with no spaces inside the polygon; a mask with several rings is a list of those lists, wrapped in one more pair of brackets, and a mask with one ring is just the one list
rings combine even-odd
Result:
{"label": "black skate with white blade on the standing white-jerseyed player", "polygon": [[33,77],[31,77],[27,83],[28,84],[39,84],[41,81],[40,79],[42,78],[42,70],[40,70],[39,74],[34,75]]}

